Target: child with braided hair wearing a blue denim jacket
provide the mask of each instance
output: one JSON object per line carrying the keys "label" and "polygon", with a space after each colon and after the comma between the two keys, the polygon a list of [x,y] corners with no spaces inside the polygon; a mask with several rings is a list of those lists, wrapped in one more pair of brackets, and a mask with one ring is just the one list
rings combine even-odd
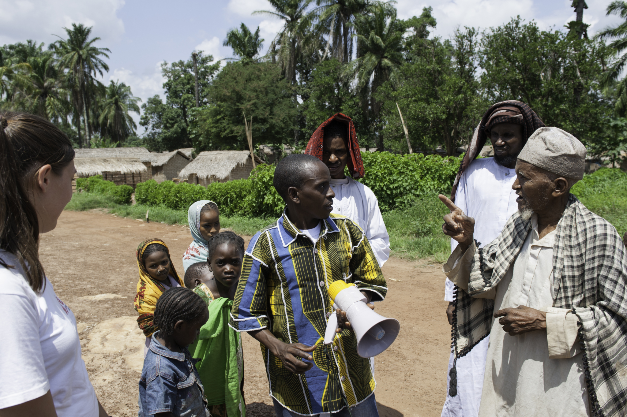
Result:
{"label": "child with braided hair wearing a blue denim jacket", "polygon": [[164,292],[154,312],[155,331],[139,380],[139,417],[210,417],[198,371],[187,346],[209,319],[207,304],[193,291]]}

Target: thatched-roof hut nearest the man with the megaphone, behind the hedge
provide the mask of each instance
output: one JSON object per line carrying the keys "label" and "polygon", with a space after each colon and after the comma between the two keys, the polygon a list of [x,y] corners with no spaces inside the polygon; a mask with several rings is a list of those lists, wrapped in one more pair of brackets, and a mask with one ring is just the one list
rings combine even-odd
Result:
{"label": "thatched-roof hut nearest the man with the megaphone, behind the hedge", "polygon": [[[263,162],[255,155],[255,163],[259,165]],[[187,178],[189,183],[207,185],[248,178],[252,170],[250,151],[205,151],[181,170],[179,178]]]}

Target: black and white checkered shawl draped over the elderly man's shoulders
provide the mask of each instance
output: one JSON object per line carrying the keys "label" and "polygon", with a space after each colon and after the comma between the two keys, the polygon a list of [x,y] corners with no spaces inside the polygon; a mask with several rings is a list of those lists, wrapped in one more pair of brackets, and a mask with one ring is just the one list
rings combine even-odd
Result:
{"label": "black and white checkered shawl draped over the elderly man's shoulders", "polygon": [[[514,214],[497,239],[475,253],[468,293],[456,288],[452,333],[456,358],[490,333],[494,302],[475,297],[505,277],[530,229],[530,220]],[[553,307],[572,309],[579,317],[592,415],[626,415],[626,250],[616,229],[572,194],[557,224],[552,291]]]}

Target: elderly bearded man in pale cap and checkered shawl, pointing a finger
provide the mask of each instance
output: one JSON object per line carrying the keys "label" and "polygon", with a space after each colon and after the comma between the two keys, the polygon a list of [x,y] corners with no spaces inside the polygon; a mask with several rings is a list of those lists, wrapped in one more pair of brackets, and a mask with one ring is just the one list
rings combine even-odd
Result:
{"label": "elderly bearded man in pale cap and checkered shawl, pointing a finger", "polygon": [[574,136],[536,130],[516,163],[519,211],[484,246],[440,195],[459,242],[443,267],[463,290],[456,358],[490,333],[480,416],[625,415],[627,257],[616,229],[570,193],[585,160]]}

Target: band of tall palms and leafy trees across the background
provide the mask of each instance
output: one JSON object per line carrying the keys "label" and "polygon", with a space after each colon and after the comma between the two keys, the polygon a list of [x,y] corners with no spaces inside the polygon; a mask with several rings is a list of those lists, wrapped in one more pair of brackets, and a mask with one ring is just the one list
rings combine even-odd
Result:
{"label": "band of tall palms and leafy trees across the background", "polygon": [[[578,2],[579,4],[581,2]],[[196,152],[261,143],[302,149],[325,119],[341,111],[355,122],[362,147],[457,155],[485,109],[501,100],[528,103],[547,125],[573,133],[590,157],[618,160],[627,149],[627,3],[608,13],[626,19],[587,36],[577,21],[542,30],[520,17],[479,31],[433,36],[433,9],[400,19],[393,2],[272,0],[282,21],[261,56],[260,29],[225,34],[235,58],[221,66],[192,51],[164,63],[164,95],[141,107],[141,138],[129,113],[139,112],[129,86],[97,80],[110,51],[74,24],[43,48],[35,41],[0,48],[0,107],[31,111],[57,123],[79,146],[145,146]],[[576,7],[576,6],[573,6]],[[579,7],[579,6],[577,6]],[[401,111],[408,138],[401,123]]]}

